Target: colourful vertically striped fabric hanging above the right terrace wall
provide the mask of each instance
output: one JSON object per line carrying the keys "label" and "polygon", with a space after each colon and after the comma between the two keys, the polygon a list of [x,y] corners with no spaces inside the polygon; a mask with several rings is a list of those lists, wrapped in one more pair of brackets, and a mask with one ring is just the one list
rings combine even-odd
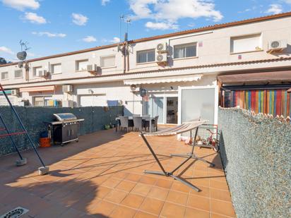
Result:
{"label": "colourful vertically striped fabric hanging above the right terrace wall", "polygon": [[225,91],[224,107],[241,107],[256,114],[291,116],[291,92],[287,90]]}

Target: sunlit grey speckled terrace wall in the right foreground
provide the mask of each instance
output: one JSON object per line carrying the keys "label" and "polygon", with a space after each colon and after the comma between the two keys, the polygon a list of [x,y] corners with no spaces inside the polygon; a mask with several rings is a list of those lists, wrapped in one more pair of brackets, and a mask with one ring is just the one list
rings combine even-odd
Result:
{"label": "sunlit grey speckled terrace wall in the right foreground", "polygon": [[220,155],[237,217],[289,217],[290,119],[232,108],[218,114]]}

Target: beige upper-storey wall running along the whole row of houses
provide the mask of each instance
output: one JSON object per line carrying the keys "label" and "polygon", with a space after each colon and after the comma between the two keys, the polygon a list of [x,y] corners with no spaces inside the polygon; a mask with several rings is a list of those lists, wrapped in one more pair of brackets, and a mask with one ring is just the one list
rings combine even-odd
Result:
{"label": "beige upper-storey wall running along the whole row of houses", "polygon": [[[238,54],[230,54],[230,37],[239,35],[251,35],[261,33],[262,49],[260,52],[248,52],[242,54],[242,59],[238,59]],[[288,49],[282,54],[268,54],[268,42],[271,40],[287,40]],[[155,49],[160,42],[167,42],[170,45],[169,64],[168,66],[158,66],[157,63],[136,64],[136,52],[144,49]],[[202,47],[197,48],[198,57],[190,59],[172,60],[172,49],[174,45],[184,44],[189,42],[203,42]],[[273,59],[278,57],[287,57],[291,53],[291,18],[278,18],[274,20],[263,21],[259,23],[250,23],[246,25],[238,25],[230,28],[222,28],[213,31],[200,32],[196,34],[180,35],[179,37],[169,37],[162,40],[151,40],[148,42],[140,42],[131,44],[129,53],[130,71],[148,71],[158,70],[164,68],[178,68],[184,66],[198,66],[212,63],[228,63],[237,61],[251,61],[260,59]],[[81,59],[89,59],[90,63],[96,63],[100,66],[100,56],[107,55],[116,56],[116,66],[112,68],[103,68],[102,75],[123,73],[123,57],[121,52],[117,52],[117,47],[100,49],[93,52],[85,52],[82,54],[73,54],[70,56],[61,56],[54,59],[45,59],[42,61],[33,61],[30,63],[29,78],[25,80],[25,73],[23,78],[14,78],[14,71],[18,69],[16,66],[0,67],[0,73],[4,71],[9,72],[8,80],[1,80],[1,84],[16,84],[16,83],[32,83],[35,81],[49,81],[65,78],[79,78],[87,77],[91,74],[87,71],[76,72],[75,61]],[[43,69],[48,70],[49,63],[61,63],[62,73],[52,75],[48,80],[44,78],[33,77],[32,68],[35,66],[42,66]],[[268,64],[268,67],[275,66],[275,63]],[[244,67],[238,67],[244,68]],[[167,74],[165,74],[167,75]],[[66,84],[66,81],[62,82]],[[43,85],[43,84],[42,84]]]}

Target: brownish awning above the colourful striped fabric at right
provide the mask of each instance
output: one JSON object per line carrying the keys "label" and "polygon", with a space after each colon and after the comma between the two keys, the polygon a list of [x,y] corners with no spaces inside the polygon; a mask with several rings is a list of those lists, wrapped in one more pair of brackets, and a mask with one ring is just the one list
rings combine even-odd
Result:
{"label": "brownish awning above the colourful striped fabric at right", "polygon": [[291,71],[271,71],[260,73],[238,73],[230,75],[218,75],[218,80],[224,84],[234,83],[287,83],[291,82]]}

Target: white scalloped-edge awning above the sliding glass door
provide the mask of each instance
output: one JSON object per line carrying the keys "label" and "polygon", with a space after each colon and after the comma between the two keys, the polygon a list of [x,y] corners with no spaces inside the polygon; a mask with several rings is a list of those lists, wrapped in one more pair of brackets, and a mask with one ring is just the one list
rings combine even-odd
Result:
{"label": "white scalloped-edge awning above the sliding glass door", "polygon": [[124,85],[140,85],[140,84],[153,84],[153,83],[177,83],[177,82],[191,82],[200,80],[202,74],[195,75],[176,75],[167,77],[153,77],[153,78],[141,78],[124,80]]}

